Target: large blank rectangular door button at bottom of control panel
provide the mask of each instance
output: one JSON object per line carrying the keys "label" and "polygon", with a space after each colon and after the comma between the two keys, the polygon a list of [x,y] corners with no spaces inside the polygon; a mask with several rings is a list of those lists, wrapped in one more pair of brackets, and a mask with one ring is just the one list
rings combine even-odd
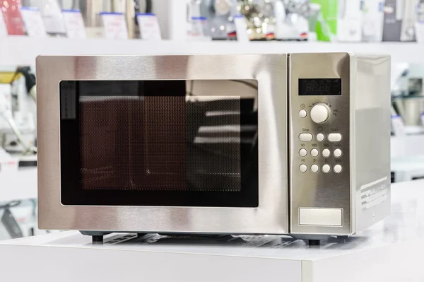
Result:
{"label": "large blank rectangular door button at bottom of control panel", "polygon": [[299,225],[343,225],[343,208],[299,208]]}

